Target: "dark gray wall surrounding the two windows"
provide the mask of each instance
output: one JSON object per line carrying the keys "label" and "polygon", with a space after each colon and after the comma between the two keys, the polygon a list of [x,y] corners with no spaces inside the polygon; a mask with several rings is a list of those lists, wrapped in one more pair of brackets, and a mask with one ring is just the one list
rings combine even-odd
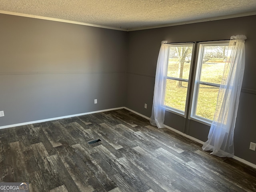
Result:
{"label": "dark gray wall surrounding the two windows", "polygon": [[[230,36],[244,34],[246,40],[246,67],[240,95],[240,106],[234,133],[235,155],[256,164],[256,152],[249,150],[250,142],[256,142],[256,16],[232,18],[150,30],[128,32],[128,67],[126,82],[126,107],[151,116],[156,62],[162,40],[168,42],[196,42],[226,40]],[[246,89],[254,90],[254,94]],[[148,104],[148,109],[144,108]],[[165,124],[202,141],[207,140],[210,127],[188,121],[166,112]]]}

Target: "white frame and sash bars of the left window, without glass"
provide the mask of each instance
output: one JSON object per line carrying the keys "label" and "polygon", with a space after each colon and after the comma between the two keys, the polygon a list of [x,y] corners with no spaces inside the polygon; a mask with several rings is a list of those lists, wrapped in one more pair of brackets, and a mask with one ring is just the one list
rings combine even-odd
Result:
{"label": "white frame and sash bars of the left window, without glass", "polygon": [[[185,111],[178,110],[176,108],[172,108],[172,107],[167,106],[167,105],[165,107],[166,107],[166,111],[172,112],[174,114],[177,114],[177,115],[180,115],[180,116],[183,116],[184,118],[186,118],[186,114],[187,114],[187,110],[188,110],[188,98],[189,98],[189,92],[190,92],[190,83],[191,83],[192,69],[193,69],[195,43],[194,42],[186,42],[186,43],[171,43],[171,44],[168,44],[168,58],[169,58],[169,54],[170,54],[170,47],[176,47],[176,46],[181,46],[181,45],[192,45],[192,54],[191,54],[191,62],[190,62],[190,70],[189,70],[188,80],[181,79],[181,78],[168,77],[168,76],[166,77],[166,80],[167,79],[178,80],[178,81],[182,81],[182,82],[187,82],[188,83]],[[168,59],[168,64],[169,64],[169,59]],[[167,64],[167,67],[168,67],[168,64]]]}

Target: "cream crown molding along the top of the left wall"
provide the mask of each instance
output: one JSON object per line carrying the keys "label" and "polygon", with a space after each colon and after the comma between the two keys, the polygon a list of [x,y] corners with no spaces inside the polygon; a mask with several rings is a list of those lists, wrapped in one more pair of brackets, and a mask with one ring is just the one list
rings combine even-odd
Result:
{"label": "cream crown molding along the top of the left wall", "polygon": [[2,10],[0,10],[0,13],[7,14],[7,15],[15,15],[15,16],[22,16],[22,17],[29,17],[29,18],[36,18],[36,19],[43,19],[43,20],[50,20],[50,21],[57,21],[57,22],[64,22],[64,23],[71,23],[71,24],[78,24],[78,25],[86,25],[86,26],[99,27],[99,28],[105,28],[105,29],[113,29],[113,30],[119,30],[119,31],[127,31],[127,29],[122,29],[122,28],[96,25],[96,24],[77,22],[77,21],[70,21],[70,20],[64,20],[64,19],[58,19],[58,18],[50,18],[50,17],[37,16],[37,15],[30,15],[30,14],[23,14],[23,13],[15,13],[15,12],[2,11]]}

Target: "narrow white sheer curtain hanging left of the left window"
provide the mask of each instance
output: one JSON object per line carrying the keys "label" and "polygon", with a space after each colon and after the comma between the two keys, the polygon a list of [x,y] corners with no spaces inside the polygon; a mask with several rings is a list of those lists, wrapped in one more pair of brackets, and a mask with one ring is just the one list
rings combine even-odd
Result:
{"label": "narrow white sheer curtain hanging left of the left window", "polygon": [[158,128],[164,128],[165,114],[165,89],[168,65],[167,41],[161,42],[161,47],[156,64],[156,79],[154,88],[154,99],[150,123]]}

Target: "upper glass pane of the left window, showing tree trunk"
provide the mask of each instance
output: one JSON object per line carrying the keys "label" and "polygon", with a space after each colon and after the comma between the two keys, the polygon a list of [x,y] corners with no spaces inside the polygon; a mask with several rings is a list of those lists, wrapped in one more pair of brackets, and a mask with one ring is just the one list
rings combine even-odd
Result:
{"label": "upper glass pane of the left window, showing tree trunk", "polygon": [[170,46],[168,77],[188,79],[192,48],[192,45]]}

